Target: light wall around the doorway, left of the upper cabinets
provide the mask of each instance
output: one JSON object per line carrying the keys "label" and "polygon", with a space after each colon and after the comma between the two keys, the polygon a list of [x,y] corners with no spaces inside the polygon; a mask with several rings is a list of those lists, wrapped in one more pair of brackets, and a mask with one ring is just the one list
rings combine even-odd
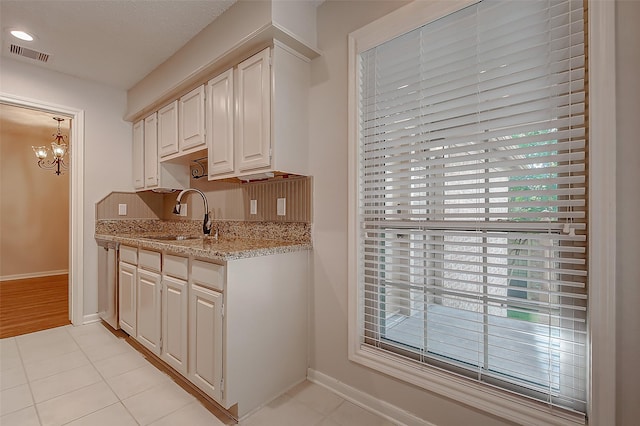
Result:
{"label": "light wall around the doorway, left of the upper cabinets", "polygon": [[[131,191],[131,124],[126,92],[2,58],[0,92],[84,111],[84,315],[98,311],[95,203],[111,191]],[[71,159],[73,161],[73,158]],[[46,212],[42,213],[46,216]]]}

